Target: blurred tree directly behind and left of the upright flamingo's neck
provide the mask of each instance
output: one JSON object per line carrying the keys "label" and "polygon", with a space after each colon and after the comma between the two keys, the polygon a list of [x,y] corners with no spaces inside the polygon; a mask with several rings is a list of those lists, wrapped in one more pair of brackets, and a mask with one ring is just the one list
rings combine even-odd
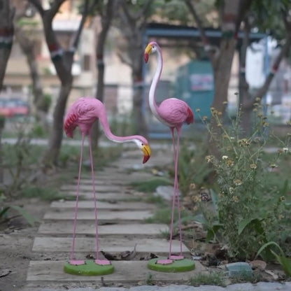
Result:
{"label": "blurred tree directly behind and left of the upright flamingo's neck", "polygon": [[[154,3],[155,2],[155,3]],[[143,36],[150,16],[160,1],[118,1],[118,18],[114,25],[120,29],[127,43],[118,53],[120,59],[132,69],[134,90],[133,115],[136,134],[147,136],[148,129],[143,113]],[[154,6],[155,4],[155,6]]]}

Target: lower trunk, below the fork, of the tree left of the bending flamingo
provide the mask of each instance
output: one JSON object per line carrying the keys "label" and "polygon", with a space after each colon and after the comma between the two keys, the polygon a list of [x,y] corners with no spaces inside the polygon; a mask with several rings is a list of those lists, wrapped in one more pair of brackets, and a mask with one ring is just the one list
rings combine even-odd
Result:
{"label": "lower trunk, below the fork, of the tree left of the bending flamingo", "polygon": [[48,148],[43,155],[43,164],[45,164],[45,166],[57,164],[57,157],[59,156],[59,150],[62,146],[64,111],[66,108],[66,101],[71,92],[72,83],[73,77],[68,76],[67,82],[61,85],[59,91],[59,97],[53,114],[54,118],[48,141]]}

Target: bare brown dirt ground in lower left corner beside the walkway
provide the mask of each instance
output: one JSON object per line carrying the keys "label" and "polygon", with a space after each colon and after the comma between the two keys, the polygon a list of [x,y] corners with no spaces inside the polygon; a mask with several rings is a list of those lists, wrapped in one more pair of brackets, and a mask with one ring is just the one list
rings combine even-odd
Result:
{"label": "bare brown dirt ground in lower left corner beside the walkway", "polygon": [[[17,205],[25,206],[34,218],[41,221],[50,203],[33,198],[17,201]],[[1,225],[0,291],[18,291],[24,287],[29,261],[34,260],[31,248],[39,224],[36,222],[34,227],[30,227],[21,216],[17,216]]]}

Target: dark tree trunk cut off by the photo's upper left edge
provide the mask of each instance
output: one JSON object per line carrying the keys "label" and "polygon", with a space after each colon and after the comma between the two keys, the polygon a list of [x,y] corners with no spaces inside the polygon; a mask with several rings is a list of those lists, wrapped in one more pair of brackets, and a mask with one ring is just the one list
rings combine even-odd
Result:
{"label": "dark tree trunk cut off by the photo's upper left edge", "polygon": [[15,7],[10,0],[0,0],[0,92],[13,43]]}

